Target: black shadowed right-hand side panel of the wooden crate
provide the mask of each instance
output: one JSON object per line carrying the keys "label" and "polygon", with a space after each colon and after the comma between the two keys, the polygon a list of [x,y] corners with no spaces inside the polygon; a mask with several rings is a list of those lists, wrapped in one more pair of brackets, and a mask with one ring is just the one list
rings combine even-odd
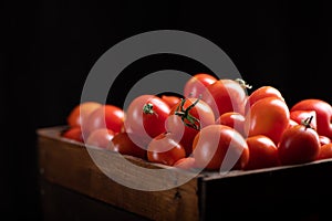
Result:
{"label": "black shadowed right-hand side panel of the wooden crate", "polygon": [[325,220],[330,218],[329,161],[200,182],[201,220]]}

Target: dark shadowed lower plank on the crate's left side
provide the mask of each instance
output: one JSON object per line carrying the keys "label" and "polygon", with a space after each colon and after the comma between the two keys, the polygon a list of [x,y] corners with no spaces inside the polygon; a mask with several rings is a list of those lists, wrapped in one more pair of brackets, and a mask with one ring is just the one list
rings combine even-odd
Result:
{"label": "dark shadowed lower plank on the crate's left side", "polygon": [[40,186],[43,221],[149,220],[43,178],[40,179]]}

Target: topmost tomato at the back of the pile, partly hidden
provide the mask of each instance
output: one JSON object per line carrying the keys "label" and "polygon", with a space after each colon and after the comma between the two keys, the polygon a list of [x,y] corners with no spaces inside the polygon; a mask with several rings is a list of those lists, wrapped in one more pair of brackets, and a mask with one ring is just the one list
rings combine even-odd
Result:
{"label": "topmost tomato at the back of the pile, partly hidden", "polygon": [[215,83],[217,78],[207,73],[198,73],[191,76],[184,86],[184,96],[198,98],[206,86]]}

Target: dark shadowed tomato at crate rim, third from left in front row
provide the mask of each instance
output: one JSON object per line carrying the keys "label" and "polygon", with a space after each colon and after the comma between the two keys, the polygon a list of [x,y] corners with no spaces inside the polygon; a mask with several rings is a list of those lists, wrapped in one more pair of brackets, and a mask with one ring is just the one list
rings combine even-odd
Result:
{"label": "dark shadowed tomato at crate rim, third from left in front row", "polygon": [[122,155],[129,155],[142,159],[146,159],[146,149],[143,149],[138,145],[136,145],[132,140],[132,137],[137,137],[137,139],[143,139],[142,137],[135,134],[128,135],[128,133],[122,131],[116,134],[113,137],[107,149],[112,151],[117,151]]}

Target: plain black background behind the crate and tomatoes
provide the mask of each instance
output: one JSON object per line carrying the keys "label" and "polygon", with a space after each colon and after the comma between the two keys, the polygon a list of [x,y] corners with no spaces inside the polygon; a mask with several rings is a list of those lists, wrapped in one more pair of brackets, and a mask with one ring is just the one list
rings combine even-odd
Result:
{"label": "plain black background behind the crate and tomatoes", "polygon": [[[331,17],[320,1],[1,2],[3,214],[41,219],[35,129],[65,124],[91,67],[114,44],[152,30],[193,32],[222,49],[253,87],[272,85],[289,105],[309,97],[331,102]],[[135,80],[137,73],[169,67],[205,71],[165,56],[137,62],[122,74]]]}

